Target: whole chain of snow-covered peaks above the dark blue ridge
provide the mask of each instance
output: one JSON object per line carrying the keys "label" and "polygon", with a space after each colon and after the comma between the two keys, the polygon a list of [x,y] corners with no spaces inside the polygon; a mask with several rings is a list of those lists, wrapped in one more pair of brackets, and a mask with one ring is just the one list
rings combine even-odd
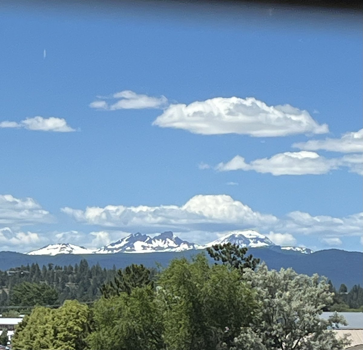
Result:
{"label": "whole chain of snow-covered peaks above the dark blue ridge", "polygon": [[[150,252],[181,252],[186,250],[200,250],[215,244],[232,243],[240,247],[270,247],[275,244],[266,236],[253,231],[232,231],[208,244],[201,245],[180,239],[171,231],[160,233],[154,237],[141,234],[130,234],[117,242],[107,244],[98,249],[88,249],[70,243],[49,244],[38,250],[27,253],[28,255],[57,255],[57,254],[115,254],[115,253],[150,253]],[[304,254],[311,254],[311,250],[304,247],[281,247]]]}

